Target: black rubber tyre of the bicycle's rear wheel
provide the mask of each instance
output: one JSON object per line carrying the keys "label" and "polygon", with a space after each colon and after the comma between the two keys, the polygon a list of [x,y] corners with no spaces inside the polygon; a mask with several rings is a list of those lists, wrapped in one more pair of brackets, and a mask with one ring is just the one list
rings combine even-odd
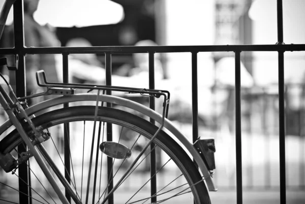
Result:
{"label": "black rubber tyre of the bicycle's rear wheel", "polygon": [[[36,127],[43,129],[50,128],[58,124],[64,124],[75,121],[93,121],[95,118],[95,106],[74,106],[53,110],[33,119]],[[118,110],[115,108],[99,107],[97,119],[103,122],[111,122],[112,124],[128,127],[141,134],[145,133],[145,137],[151,137],[155,134],[158,127],[150,122],[131,114],[129,112]],[[25,125],[25,130],[29,127]],[[21,137],[16,131],[8,134],[0,141],[0,151],[2,154],[12,152],[22,142]],[[182,174],[184,174],[191,187],[192,194],[197,203],[210,203],[209,195],[202,177],[194,162],[188,154],[177,144],[167,133],[161,131],[154,141],[178,166]]]}

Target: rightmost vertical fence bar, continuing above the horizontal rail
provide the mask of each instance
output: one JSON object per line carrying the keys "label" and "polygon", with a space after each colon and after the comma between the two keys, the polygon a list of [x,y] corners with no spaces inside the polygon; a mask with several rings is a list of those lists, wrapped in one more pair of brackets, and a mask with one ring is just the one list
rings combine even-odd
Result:
{"label": "rightmost vertical fence bar, continuing above the horizontal rail", "polygon": [[[283,44],[283,1],[277,0],[278,45]],[[280,199],[286,203],[284,52],[279,51]]]}

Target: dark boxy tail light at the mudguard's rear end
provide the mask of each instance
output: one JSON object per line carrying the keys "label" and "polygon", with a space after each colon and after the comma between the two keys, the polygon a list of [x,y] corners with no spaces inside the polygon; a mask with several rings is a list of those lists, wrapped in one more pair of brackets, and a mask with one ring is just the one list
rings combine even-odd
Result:
{"label": "dark boxy tail light at the mudguard's rear end", "polygon": [[215,141],[214,139],[198,139],[194,143],[194,147],[200,153],[208,170],[214,170],[215,167]]}

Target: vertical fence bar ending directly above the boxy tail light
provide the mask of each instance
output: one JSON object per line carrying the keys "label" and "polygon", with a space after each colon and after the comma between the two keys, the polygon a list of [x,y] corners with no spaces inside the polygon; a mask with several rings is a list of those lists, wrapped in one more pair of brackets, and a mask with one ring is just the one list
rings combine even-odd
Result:
{"label": "vertical fence bar ending directly above the boxy tail light", "polygon": [[198,72],[197,52],[192,52],[192,124],[193,143],[198,139]]}

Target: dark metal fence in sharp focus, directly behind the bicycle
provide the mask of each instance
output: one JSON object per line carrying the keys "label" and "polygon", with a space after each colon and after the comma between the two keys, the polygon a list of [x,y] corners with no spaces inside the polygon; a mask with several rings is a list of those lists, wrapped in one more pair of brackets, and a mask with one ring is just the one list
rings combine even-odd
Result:
{"label": "dark metal fence in sharp focus, directly behind the bicycle", "polygon": [[[242,112],[241,112],[241,84],[240,84],[240,53],[248,51],[276,51],[278,52],[278,70],[279,70],[279,82],[278,82],[278,137],[279,137],[279,156],[280,156],[280,196],[281,203],[286,203],[286,160],[285,160],[285,82],[284,82],[284,52],[285,51],[305,51],[305,44],[290,44],[283,43],[283,8],[282,0],[278,0],[278,43],[275,45],[218,45],[218,46],[143,46],[143,47],[52,47],[52,48],[25,48],[23,39],[23,8],[22,2],[17,1],[14,4],[14,48],[0,49],[0,54],[14,54],[19,56],[19,66],[16,71],[16,87],[17,96],[25,96],[25,66],[24,56],[26,54],[62,54],[63,55],[63,75],[64,82],[68,82],[69,75],[69,62],[68,54],[70,53],[99,53],[105,54],[105,66],[106,66],[106,85],[111,85],[111,55],[114,53],[148,53],[149,54],[149,89],[155,88],[154,77],[154,54],[155,53],[168,53],[168,52],[188,52],[192,54],[192,130],[193,141],[198,136],[198,72],[197,61],[198,52],[234,52],[235,53],[235,151],[236,151],[236,189],[237,189],[237,203],[242,203]],[[188,70],[186,70],[188,71]],[[108,94],[111,94],[108,92]],[[263,93],[264,94],[264,93]],[[302,99],[303,100],[303,99]],[[155,102],[150,100],[150,107],[155,108]],[[303,110],[300,113],[300,134],[303,134]],[[264,120],[264,119],[263,119]],[[264,123],[267,124],[267,123]],[[266,130],[268,127],[264,127]],[[108,138],[111,139],[111,138]],[[21,149],[22,147],[20,147]],[[303,148],[301,148],[303,151]],[[18,148],[19,150],[19,148]],[[19,150],[20,151],[20,150]],[[21,150],[23,151],[23,150]],[[300,152],[300,156],[303,157],[303,152]],[[154,161],[154,158],[151,160]],[[152,164],[154,165],[154,164]],[[265,169],[269,168],[266,164]],[[304,166],[300,166],[301,172],[304,171]],[[250,169],[250,168],[249,168]],[[24,181],[28,180],[29,171],[27,167],[19,167],[19,176]],[[249,170],[251,171],[251,169]],[[153,172],[154,173],[154,172]],[[268,177],[268,176],[266,176]],[[301,176],[302,183],[304,185],[304,176]],[[153,185],[156,181],[153,180]],[[19,189],[25,194],[29,189],[23,182],[19,182]],[[20,200],[23,203],[27,199],[24,199],[24,195],[20,193]]]}

